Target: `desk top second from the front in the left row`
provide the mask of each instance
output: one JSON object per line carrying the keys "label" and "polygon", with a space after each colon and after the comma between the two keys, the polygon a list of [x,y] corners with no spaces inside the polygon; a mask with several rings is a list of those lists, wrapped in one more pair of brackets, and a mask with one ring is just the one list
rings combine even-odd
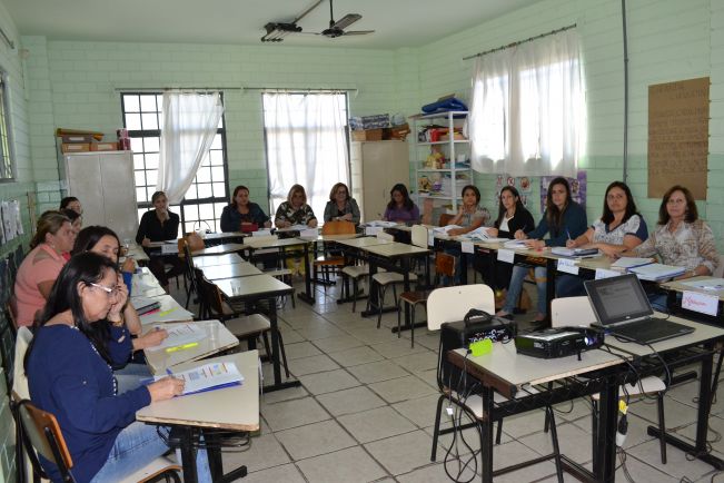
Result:
{"label": "desk top second from the front in the left row", "polygon": [[[166,352],[165,349],[146,348],[146,362],[148,367],[153,374],[163,374],[167,368],[176,371],[176,366],[192,361],[199,361],[214,354],[218,354],[227,348],[239,345],[239,339],[229,332],[228,328],[219,321],[199,321],[189,322],[187,324],[195,324],[202,327],[207,333],[207,337],[200,341],[195,347],[184,348],[173,352]],[[179,324],[159,324],[159,327],[172,328]],[[145,327],[146,328],[146,327]],[[149,327],[148,331],[155,331],[155,327]],[[216,337],[211,337],[211,332]]]}

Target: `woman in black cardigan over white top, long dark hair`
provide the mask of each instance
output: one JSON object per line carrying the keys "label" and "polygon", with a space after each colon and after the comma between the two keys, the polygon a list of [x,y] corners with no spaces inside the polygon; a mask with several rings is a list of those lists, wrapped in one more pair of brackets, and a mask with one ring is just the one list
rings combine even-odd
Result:
{"label": "woman in black cardigan over white top, long dark hair", "polygon": [[[498,199],[498,218],[495,220],[494,227],[488,228],[488,235],[495,238],[513,238],[517,230],[530,231],[535,228],[535,220],[533,215],[528,211],[523,201],[518,190],[513,186],[504,186],[500,189]],[[485,260],[488,260],[485,257]],[[489,274],[489,267],[485,266],[483,274]],[[513,275],[513,265],[510,264],[495,264],[494,279],[488,282],[488,285],[496,290],[507,289]],[[489,276],[487,277],[489,278]]]}

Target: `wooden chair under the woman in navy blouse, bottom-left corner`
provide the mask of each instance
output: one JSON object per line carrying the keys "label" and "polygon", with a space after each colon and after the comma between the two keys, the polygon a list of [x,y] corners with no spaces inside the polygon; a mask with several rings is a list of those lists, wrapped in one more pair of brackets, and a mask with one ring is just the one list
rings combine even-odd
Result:
{"label": "wooden chair under the woman in navy blouse, bottom-left corner", "polygon": [[[38,454],[50,463],[54,464],[63,482],[75,482],[71,474],[73,467],[72,457],[63,438],[60,425],[56,416],[36,407],[28,400],[18,400],[13,394],[13,415],[16,424],[20,426],[22,444],[27,446],[27,454],[33,467],[36,477],[48,479],[48,474],[40,465]],[[180,483],[178,472],[181,467],[165,456],[159,456],[145,467],[133,472],[121,480],[121,483],[146,483],[160,481],[161,479]]]}

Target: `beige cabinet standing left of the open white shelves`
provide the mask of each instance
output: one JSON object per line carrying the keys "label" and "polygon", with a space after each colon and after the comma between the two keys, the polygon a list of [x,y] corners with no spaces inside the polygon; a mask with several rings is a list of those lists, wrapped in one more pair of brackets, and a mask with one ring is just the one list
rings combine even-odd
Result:
{"label": "beige cabinet standing left of the open white shelves", "polygon": [[350,146],[351,196],[363,221],[380,219],[389,203],[389,191],[398,183],[409,183],[409,152],[406,141],[359,141]]}

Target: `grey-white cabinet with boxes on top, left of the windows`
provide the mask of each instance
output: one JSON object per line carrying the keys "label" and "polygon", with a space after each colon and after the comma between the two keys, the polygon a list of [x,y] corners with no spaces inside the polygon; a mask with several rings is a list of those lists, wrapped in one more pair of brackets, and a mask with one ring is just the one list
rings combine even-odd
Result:
{"label": "grey-white cabinet with boxes on top, left of the windows", "polygon": [[103,225],[123,238],[135,238],[138,209],[131,151],[65,155],[68,195],[83,207],[83,226]]}

